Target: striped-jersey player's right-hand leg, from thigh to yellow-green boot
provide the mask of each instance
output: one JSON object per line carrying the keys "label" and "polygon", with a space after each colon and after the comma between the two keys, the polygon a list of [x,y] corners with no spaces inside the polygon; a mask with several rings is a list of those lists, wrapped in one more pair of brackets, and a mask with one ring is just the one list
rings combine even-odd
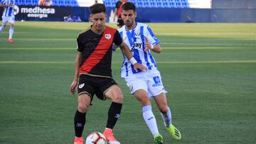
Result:
{"label": "striped-jersey player's right-hand leg, from thigh to yellow-green boot", "polygon": [[156,101],[156,105],[161,112],[161,117],[164,120],[166,129],[171,133],[175,140],[181,140],[181,132],[178,131],[178,129],[175,128],[171,122],[171,109],[167,105],[166,94],[162,92],[161,94],[154,96],[154,100]]}

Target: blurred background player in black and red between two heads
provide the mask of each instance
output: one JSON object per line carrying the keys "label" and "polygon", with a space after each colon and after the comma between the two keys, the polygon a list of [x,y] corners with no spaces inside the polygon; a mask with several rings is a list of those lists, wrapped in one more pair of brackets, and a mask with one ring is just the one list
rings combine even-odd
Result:
{"label": "blurred background player in black and red between two heads", "polygon": [[122,11],[123,4],[126,3],[126,2],[127,2],[127,0],[117,1],[117,4],[116,4],[115,9],[114,9],[114,21],[115,21],[115,18],[117,17],[117,26],[119,28],[124,26],[124,21],[122,20],[122,17],[121,17],[121,11]]}

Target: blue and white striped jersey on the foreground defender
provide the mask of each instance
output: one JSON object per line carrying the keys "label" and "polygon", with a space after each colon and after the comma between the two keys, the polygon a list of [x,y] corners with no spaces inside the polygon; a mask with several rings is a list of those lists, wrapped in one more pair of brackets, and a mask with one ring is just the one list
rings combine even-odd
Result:
{"label": "blue and white striped jersey on the foreground defender", "polygon": [[[145,37],[152,45],[159,44],[159,40],[156,38],[156,35],[154,35],[151,28],[149,28],[149,26],[144,23],[137,23],[137,26],[135,26],[135,28],[130,31],[127,31],[125,26],[120,28],[118,31],[124,40],[124,43],[126,43],[129,49],[132,51],[132,54],[137,62],[145,65],[148,70],[157,70],[156,61],[151,55],[150,50],[144,52],[146,41]],[[124,61],[121,68],[121,77],[128,77],[132,74],[142,72],[141,70],[135,72],[132,63],[129,62],[127,57],[124,55],[123,57]]]}

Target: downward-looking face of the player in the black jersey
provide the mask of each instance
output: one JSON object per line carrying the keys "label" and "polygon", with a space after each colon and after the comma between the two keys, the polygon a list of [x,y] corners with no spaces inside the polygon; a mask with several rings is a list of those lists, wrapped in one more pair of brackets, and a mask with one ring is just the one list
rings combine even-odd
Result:
{"label": "downward-looking face of the player in the black jersey", "polygon": [[90,21],[92,21],[92,28],[96,31],[104,30],[106,19],[107,19],[106,13],[91,14]]}

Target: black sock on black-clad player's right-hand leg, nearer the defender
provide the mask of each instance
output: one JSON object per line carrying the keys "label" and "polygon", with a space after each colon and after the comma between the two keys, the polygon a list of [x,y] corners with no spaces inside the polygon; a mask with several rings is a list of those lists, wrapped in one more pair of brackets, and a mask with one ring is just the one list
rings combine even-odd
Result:
{"label": "black sock on black-clad player's right-hand leg, nearer the defender", "polygon": [[107,118],[107,126],[106,128],[114,128],[115,123],[117,123],[117,120],[120,116],[122,109],[122,104],[112,102],[109,112],[108,112],[108,118]]}

